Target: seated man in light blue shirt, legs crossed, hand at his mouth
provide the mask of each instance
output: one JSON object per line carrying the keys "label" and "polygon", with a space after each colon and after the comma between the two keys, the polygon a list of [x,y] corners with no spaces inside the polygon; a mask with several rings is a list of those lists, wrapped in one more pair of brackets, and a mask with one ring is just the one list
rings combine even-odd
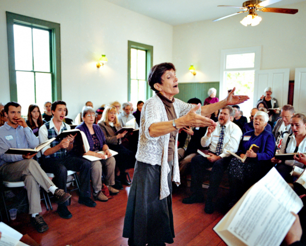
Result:
{"label": "seated man in light blue shirt, legs crossed, hand at his mouth", "polygon": [[31,223],[38,232],[44,232],[48,230],[48,226],[39,214],[41,212],[39,185],[47,192],[54,194],[58,203],[64,203],[71,196],[55,186],[38,162],[32,159],[36,154],[5,154],[10,148],[33,149],[39,144],[39,140],[21,117],[20,104],[9,102],[4,110],[8,122],[0,127],[0,175],[5,181],[25,183],[30,206],[29,213],[32,214]]}

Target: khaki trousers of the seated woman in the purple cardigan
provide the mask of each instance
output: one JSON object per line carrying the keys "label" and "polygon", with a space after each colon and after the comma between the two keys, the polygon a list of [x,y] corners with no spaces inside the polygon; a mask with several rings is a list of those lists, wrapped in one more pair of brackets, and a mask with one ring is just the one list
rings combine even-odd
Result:
{"label": "khaki trousers of the seated woman in the purple cardigan", "polygon": [[105,173],[106,185],[115,184],[115,166],[116,160],[112,156],[106,160],[96,160],[91,162],[91,181],[93,190],[101,190],[102,188],[102,168]]}

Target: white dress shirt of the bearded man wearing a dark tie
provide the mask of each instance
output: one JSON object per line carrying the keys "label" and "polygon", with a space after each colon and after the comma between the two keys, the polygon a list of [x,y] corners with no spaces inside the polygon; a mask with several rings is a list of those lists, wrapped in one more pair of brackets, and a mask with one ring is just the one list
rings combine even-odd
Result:
{"label": "white dress shirt of the bearded man wearing a dark tie", "polygon": [[[223,147],[222,153],[219,155],[221,158],[228,157],[231,154],[227,150],[236,153],[238,151],[239,143],[242,136],[242,131],[235,123],[228,120],[224,125],[224,138],[223,138]],[[221,132],[221,125],[217,124],[216,129],[212,132],[210,138],[206,134],[201,138],[202,147],[208,147],[211,152],[216,153],[217,144],[219,141],[219,136]]]}

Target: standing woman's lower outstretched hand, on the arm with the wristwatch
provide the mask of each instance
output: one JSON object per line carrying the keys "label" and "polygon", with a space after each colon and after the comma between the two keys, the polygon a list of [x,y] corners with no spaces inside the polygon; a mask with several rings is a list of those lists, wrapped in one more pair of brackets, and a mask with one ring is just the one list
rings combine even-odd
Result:
{"label": "standing woman's lower outstretched hand, on the arm with the wristwatch", "polygon": [[[217,123],[214,122],[213,120],[196,114],[196,111],[200,108],[200,106],[201,104],[199,103],[197,106],[191,108],[191,110],[186,115],[179,118],[182,120],[182,124],[184,124],[184,126],[206,127],[206,126],[216,126],[217,125]],[[175,122],[177,120],[175,120]]]}

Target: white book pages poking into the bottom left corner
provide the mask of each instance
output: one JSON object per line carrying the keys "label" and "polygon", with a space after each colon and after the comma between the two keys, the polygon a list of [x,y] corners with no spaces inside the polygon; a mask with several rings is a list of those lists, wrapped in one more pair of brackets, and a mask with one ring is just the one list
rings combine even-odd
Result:
{"label": "white book pages poking into the bottom left corner", "polygon": [[19,240],[22,237],[22,234],[9,227],[8,225],[0,222],[0,246],[24,246],[28,245]]}

